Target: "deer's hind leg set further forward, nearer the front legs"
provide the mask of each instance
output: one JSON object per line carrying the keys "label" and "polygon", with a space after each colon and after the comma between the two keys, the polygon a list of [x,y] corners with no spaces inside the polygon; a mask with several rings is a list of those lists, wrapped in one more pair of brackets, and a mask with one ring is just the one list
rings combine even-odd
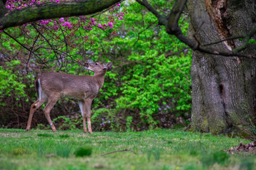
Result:
{"label": "deer's hind leg set further forward, nearer the front legs", "polygon": [[50,110],[55,106],[55,103],[58,101],[60,98],[59,93],[52,93],[48,97],[48,103],[46,107],[43,109],[43,113],[46,115],[46,119],[48,120],[48,123],[50,124],[50,128],[52,128],[53,132],[56,132],[56,128],[53,125],[53,121],[50,119]]}

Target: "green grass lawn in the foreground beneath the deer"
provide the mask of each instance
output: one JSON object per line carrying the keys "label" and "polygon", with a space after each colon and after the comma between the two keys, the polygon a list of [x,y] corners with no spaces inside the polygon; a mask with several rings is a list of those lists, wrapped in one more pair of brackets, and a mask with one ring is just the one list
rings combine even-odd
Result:
{"label": "green grass lawn in the foreground beneath the deer", "polygon": [[[181,130],[0,129],[0,169],[256,169],[254,155],[225,152],[240,142],[250,141]],[[81,148],[90,154],[76,157]]]}

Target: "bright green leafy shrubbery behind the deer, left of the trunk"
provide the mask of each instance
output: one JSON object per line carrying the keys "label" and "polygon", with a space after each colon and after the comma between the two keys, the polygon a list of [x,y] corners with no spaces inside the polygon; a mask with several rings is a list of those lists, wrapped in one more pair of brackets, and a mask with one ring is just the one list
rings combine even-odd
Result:
{"label": "bright green leafy shrubbery behind the deer, left of the trunk", "polygon": [[[167,13],[173,2],[157,1],[153,5],[161,13]],[[117,14],[115,20],[109,18]],[[164,27],[157,25],[156,17],[134,1],[126,1],[114,7],[114,11],[94,18],[96,21],[112,20],[114,27],[81,28],[76,18],[69,18],[71,26],[77,29],[60,26],[62,29],[53,33],[50,29],[40,30],[42,26],[53,27],[50,25],[53,23],[41,22],[8,28],[9,35],[0,33],[1,128],[26,128],[30,106],[36,101],[34,81],[38,75],[44,72],[92,75],[81,64],[87,59],[114,65],[92,103],[93,130],[140,131],[189,124],[191,50],[176,37],[169,36]],[[186,34],[186,11],[179,25]],[[41,38],[38,38],[39,33],[44,33]],[[68,40],[72,40],[70,47],[66,45]],[[36,55],[43,60],[32,58],[31,52],[22,46],[34,47],[35,42],[38,42]],[[63,97],[51,111],[58,129],[82,128],[82,116],[75,102]],[[42,108],[38,109],[32,123],[32,128],[50,128]]]}

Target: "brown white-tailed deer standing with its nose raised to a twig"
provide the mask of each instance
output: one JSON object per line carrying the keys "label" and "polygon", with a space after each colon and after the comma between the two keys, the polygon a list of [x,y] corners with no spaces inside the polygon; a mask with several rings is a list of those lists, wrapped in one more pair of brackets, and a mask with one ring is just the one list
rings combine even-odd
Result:
{"label": "brown white-tailed deer standing with its nose raised to a twig", "polygon": [[43,109],[43,113],[46,115],[46,119],[53,132],[55,132],[56,128],[50,119],[50,110],[61,95],[67,95],[73,98],[78,98],[78,104],[82,113],[83,131],[87,132],[85,120],[87,117],[88,131],[89,133],[92,133],[90,122],[92,100],[97,96],[100,88],[102,88],[106,72],[112,70],[112,62],[103,64],[101,62],[90,61],[85,64],[85,69],[94,72],[94,76],[78,76],[53,72],[42,74],[36,79],[38,100],[31,105],[28,125],[26,127],[27,131],[31,129],[33,113],[48,99],[48,103]]}

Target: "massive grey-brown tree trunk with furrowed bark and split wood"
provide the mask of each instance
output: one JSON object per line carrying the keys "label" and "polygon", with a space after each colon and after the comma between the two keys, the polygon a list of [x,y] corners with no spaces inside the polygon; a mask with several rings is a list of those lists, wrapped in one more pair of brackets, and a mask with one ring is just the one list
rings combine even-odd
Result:
{"label": "massive grey-brown tree trunk with furrowed bark and split wood", "polygon": [[[188,12],[191,35],[200,45],[245,35],[256,26],[254,0],[191,0]],[[213,46],[234,49],[241,44],[230,40]],[[255,55],[255,45],[244,53]],[[256,135],[256,60],[193,52],[191,80],[192,130]]]}

